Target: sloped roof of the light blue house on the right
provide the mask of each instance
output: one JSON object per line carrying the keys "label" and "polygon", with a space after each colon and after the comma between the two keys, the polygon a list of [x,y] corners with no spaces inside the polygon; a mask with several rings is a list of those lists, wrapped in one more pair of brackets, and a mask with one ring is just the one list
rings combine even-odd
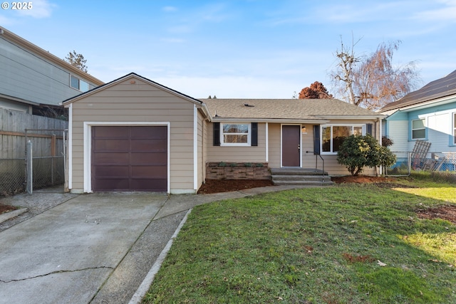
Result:
{"label": "sloped roof of the light blue house on the right", "polygon": [[420,103],[426,103],[437,98],[455,94],[456,70],[452,71],[452,73],[446,75],[444,78],[440,78],[427,83],[427,85],[425,85],[423,88],[420,88],[420,90],[415,90],[393,103],[388,103],[388,105],[385,105],[385,107],[383,107],[380,112],[404,108],[410,105],[419,105]]}

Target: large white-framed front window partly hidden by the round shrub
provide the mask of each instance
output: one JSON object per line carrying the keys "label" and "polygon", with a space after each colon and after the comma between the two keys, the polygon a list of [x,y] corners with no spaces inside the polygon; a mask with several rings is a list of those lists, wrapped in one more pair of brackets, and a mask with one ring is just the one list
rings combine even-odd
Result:
{"label": "large white-framed front window partly hidden by the round shrub", "polygon": [[323,125],[321,126],[321,152],[336,153],[346,137],[365,133],[363,125]]}

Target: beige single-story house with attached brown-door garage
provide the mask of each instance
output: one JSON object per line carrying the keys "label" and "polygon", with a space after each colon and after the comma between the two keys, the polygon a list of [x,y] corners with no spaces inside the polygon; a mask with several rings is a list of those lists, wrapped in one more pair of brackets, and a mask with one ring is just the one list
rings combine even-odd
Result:
{"label": "beige single-story house with attached brown-door garage", "polygon": [[384,117],[334,99],[197,100],[135,73],[63,105],[75,193],[195,193],[209,162],[322,169],[322,157],[329,174],[348,174],[336,161],[341,139],[380,139]]}

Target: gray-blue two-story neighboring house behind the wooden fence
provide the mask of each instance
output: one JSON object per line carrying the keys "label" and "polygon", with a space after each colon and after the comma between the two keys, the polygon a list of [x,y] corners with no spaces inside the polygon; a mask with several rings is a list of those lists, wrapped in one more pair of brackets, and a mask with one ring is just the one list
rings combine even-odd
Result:
{"label": "gray-blue two-story neighboring house behind the wooden fence", "polygon": [[103,82],[0,27],[0,108],[42,115]]}

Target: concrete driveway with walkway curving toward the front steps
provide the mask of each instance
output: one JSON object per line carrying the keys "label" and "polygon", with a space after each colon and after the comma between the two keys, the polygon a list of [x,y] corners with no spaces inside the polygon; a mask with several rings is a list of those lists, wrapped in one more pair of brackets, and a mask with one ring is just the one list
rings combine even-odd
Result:
{"label": "concrete driveway with walkway curving toward the front steps", "polygon": [[[129,303],[133,295],[132,303],[138,302],[187,211],[294,188],[300,187],[205,195],[61,194],[63,202],[57,199],[34,216],[26,212],[23,221],[0,232],[0,303]],[[16,198],[31,204],[35,195],[46,200],[43,193]],[[14,198],[1,202],[21,206]]]}

